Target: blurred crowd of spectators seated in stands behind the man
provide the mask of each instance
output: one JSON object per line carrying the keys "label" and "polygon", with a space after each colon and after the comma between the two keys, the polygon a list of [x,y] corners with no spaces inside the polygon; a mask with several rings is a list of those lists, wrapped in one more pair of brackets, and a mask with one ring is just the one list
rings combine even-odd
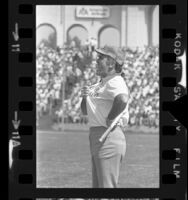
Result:
{"label": "blurred crowd of spectators seated in stands behind the man", "polygon": [[[88,49],[89,52],[88,52]],[[129,125],[159,126],[158,47],[123,48],[122,76],[130,90]],[[94,49],[87,45],[37,48],[37,119],[51,114],[54,123],[87,123],[80,110],[81,88],[99,80]]]}

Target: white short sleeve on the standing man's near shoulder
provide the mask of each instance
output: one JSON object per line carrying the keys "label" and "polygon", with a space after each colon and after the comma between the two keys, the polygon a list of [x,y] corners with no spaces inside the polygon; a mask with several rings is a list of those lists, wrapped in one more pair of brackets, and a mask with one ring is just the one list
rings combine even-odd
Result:
{"label": "white short sleeve on the standing man's near shoulder", "polygon": [[106,85],[106,93],[110,99],[119,94],[129,95],[128,87],[122,77],[111,79]]}

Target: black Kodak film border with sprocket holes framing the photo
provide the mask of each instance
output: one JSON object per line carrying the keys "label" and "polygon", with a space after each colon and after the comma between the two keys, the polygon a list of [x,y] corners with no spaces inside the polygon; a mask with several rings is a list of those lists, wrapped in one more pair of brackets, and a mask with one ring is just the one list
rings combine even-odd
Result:
{"label": "black Kodak film border with sprocket holes framing the photo", "polygon": [[[70,2],[63,2],[65,5]],[[103,2],[105,4],[105,2]],[[121,1],[120,4],[125,2]],[[9,199],[187,199],[187,130],[181,108],[186,86],[186,1],[143,1],[160,6],[160,186],[159,188],[36,188],[36,5],[60,1],[9,1]],[[82,2],[84,4],[84,2]],[[88,2],[85,2],[87,5]],[[101,4],[101,3],[100,3]],[[133,2],[126,1],[126,4]],[[139,4],[140,2],[134,2]]]}

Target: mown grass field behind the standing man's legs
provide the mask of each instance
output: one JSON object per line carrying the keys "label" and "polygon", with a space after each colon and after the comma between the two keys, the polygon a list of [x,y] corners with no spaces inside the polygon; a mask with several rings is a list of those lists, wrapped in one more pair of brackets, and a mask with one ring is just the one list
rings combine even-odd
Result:
{"label": "mown grass field behind the standing man's legs", "polygon": [[[159,187],[159,134],[126,133],[119,187]],[[37,131],[37,187],[91,188],[88,132]]]}

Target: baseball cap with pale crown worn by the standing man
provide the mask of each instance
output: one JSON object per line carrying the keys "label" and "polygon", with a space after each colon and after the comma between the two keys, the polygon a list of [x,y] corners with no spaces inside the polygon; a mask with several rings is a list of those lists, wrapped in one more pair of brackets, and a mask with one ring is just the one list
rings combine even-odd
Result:
{"label": "baseball cap with pale crown worn by the standing man", "polygon": [[123,51],[118,47],[105,45],[102,48],[95,49],[95,51],[97,53],[100,53],[100,54],[103,54],[106,56],[110,56],[120,65],[123,65],[123,63],[124,63],[125,55],[124,55]]}

